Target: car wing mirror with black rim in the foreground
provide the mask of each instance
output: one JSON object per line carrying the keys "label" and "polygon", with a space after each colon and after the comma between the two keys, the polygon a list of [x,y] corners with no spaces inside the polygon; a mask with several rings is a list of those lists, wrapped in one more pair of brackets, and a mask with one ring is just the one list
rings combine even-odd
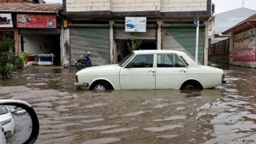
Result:
{"label": "car wing mirror with black rim in the foreground", "polygon": [[39,122],[33,107],[19,100],[0,100],[0,106],[0,143],[34,143]]}

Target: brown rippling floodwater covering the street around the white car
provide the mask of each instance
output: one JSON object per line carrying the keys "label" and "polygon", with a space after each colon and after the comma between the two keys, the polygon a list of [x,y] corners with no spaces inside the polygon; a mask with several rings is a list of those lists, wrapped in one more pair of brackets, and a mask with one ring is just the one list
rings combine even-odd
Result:
{"label": "brown rippling floodwater covering the street around the white car", "polygon": [[212,90],[74,87],[75,69],[17,70],[0,98],[30,102],[36,143],[256,143],[256,70],[230,67]]}

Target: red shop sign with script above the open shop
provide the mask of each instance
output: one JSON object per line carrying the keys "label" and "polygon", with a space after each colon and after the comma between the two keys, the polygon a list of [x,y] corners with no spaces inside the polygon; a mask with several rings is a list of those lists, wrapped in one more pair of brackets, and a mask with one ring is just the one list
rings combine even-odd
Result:
{"label": "red shop sign with script above the open shop", "polygon": [[17,14],[17,27],[19,28],[56,28],[55,15]]}

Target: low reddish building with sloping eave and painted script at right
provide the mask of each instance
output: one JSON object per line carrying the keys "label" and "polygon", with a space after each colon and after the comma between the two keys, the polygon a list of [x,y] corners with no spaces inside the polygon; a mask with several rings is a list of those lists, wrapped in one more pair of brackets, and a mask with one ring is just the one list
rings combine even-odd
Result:
{"label": "low reddish building with sloping eave and painted script at right", "polygon": [[230,63],[256,67],[256,14],[233,26],[223,34],[230,34]]}

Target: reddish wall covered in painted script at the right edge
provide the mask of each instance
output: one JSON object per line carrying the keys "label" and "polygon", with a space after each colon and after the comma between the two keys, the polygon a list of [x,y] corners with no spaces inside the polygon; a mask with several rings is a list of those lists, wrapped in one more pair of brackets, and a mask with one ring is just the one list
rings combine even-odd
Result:
{"label": "reddish wall covered in painted script at the right edge", "polygon": [[251,29],[234,35],[234,62],[255,62],[256,30]]}

